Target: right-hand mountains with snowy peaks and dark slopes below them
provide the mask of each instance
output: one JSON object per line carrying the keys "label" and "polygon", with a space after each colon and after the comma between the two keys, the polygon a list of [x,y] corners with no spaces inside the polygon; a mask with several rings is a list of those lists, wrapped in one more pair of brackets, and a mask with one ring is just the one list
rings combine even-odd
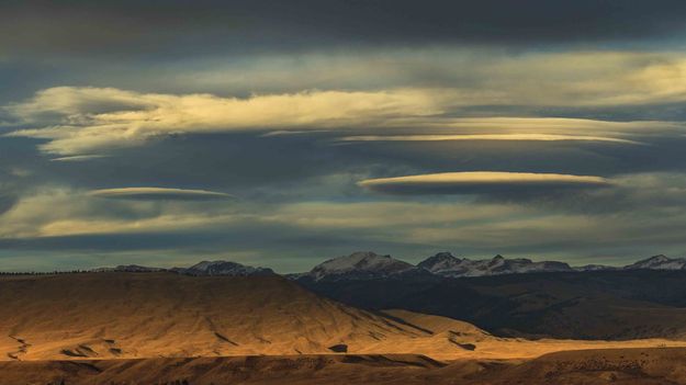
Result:
{"label": "right-hand mountains with snowy peaks and dark slopes below them", "polygon": [[389,256],[356,253],[294,279],[316,294],[358,308],[403,308],[461,319],[498,336],[683,339],[685,262],[655,256],[622,268],[573,268],[555,261],[502,256],[474,261],[439,253],[407,267]]}

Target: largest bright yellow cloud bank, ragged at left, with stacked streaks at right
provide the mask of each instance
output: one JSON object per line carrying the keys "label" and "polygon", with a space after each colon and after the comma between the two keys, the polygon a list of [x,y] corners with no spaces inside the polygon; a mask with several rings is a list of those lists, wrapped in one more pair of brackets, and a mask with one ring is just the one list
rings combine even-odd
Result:
{"label": "largest bright yellow cloud bank, ragged at left, with stacked streaks at right", "polygon": [[[432,131],[431,134],[483,135],[482,139],[572,140],[575,136],[576,140],[629,143],[632,139],[622,136],[684,131],[683,124],[673,122],[445,115],[458,105],[479,103],[479,98],[459,90],[428,89],[306,91],[238,99],[58,87],[10,104],[5,111],[22,125],[34,127],[14,131],[9,136],[47,140],[41,149],[61,155],[61,160],[86,159],[74,156],[92,157],[179,134],[415,127],[423,135]],[[589,133],[578,135],[580,131]],[[492,136],[503,134],[510,136]]]}

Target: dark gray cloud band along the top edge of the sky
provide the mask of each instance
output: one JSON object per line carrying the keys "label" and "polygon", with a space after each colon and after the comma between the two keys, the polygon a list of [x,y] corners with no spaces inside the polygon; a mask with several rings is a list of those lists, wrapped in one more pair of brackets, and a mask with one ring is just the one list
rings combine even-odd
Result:
{"label": "dark gray cloud band along the top edge of the sky", "polygon": [[675,37],[682,1],[5,1],[24,54],[175,55],[330,44],[583,43]]}

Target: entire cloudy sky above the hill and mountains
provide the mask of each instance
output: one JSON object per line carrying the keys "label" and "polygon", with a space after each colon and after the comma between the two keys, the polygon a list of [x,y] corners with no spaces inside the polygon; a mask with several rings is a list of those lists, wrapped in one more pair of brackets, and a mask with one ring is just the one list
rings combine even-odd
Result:
{"label": "entire cloudy sky above the hill and mountains", "polygon": [[0,270],[686,254],[686,2],[0,3]]}

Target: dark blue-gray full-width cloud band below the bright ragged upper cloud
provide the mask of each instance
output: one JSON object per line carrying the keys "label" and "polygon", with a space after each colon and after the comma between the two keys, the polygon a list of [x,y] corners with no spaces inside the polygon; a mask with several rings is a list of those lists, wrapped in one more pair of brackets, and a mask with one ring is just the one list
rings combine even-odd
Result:
{"label": "dark blue-gray full-width cloud band below the bright ragged upper cloud", "polygon": [[[337,133],[260,137],[229,133],[181,135],[106,158],[50,161],[36,140],[3,138],[7,177],[31,190],[43,183],[78,189],[169,186],[226,192],[241,199],[293,201],[360,196],[361,179],[409,174],[509,171],[612,178],[631,172],[679,171],[686,137],[648,137],[646,146],[574,141],[396,141],[339,145]],[[10,169],[29,174],[10,175]],[[326,175],[346,181],[322,184]],[[344,184],[340,184],[340,183]]]}

